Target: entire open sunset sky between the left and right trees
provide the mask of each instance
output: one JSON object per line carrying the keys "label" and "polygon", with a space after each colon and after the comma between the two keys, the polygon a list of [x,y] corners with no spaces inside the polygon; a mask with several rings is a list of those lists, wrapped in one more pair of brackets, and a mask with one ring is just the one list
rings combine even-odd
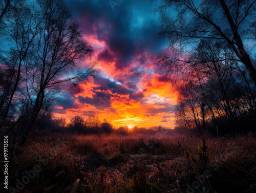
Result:
{"label": "entire open sunset sky between the left and right trees", "polygon": [[[66,0],[93,47],[99,73],[65,93],[55,116],[89,115],[130,128],[174,128],[177,92],[156,65],[167,41],[158,37],[158,16],[148,0]],[[87,61],[84,61],[87,62]]]}

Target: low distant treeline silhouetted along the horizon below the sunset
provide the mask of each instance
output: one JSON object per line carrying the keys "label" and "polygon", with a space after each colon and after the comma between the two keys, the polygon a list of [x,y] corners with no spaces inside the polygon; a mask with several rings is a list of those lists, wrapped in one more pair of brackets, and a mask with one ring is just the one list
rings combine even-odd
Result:
{"label": "low distant treeline silhouetted along the horizon below the sunset", "polygon": [[64,117],[55,118],[53,115],[39,117],[35,122],[35,133],[66,133],[66,134],[79,134],[79,135],[154,135],[155,137],[162,137],[164,135],[174,136],[176,132],[169,128],[162,126],[152,126],[149,128],[134,126],[115,127],[113,124],[106,120],[100,120],[95,115],[89,115],[87,118],[82,116],[71,117],[67,120]]}

